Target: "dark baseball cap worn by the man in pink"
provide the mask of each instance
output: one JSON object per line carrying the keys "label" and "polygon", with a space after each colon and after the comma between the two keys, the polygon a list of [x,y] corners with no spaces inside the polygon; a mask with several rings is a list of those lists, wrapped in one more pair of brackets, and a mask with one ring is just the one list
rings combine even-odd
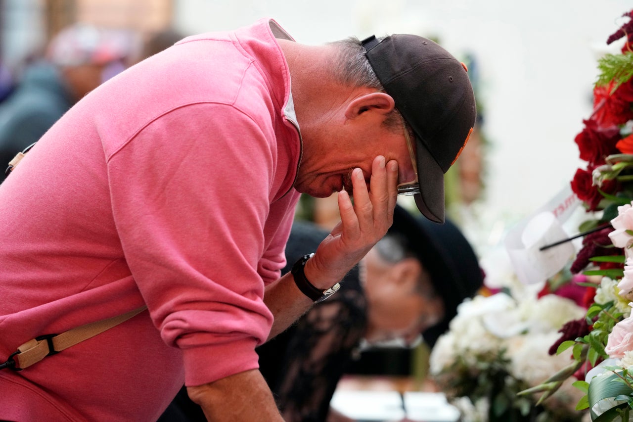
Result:
{"label": "dark baseball cap worn by the man in pink", "polygon": [[475,124],[475,95],[465,65],[417,35],[374,35],[362,41],[384,90],[415,134],[417,186],[404,195],[430,221],[444,222],[444,173],[460,156]]}

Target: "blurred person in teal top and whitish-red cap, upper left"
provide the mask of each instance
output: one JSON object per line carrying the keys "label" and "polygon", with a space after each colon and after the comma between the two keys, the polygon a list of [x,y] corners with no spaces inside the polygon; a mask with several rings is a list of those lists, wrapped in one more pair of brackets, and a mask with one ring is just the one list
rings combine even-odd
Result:
{"label": "blurred person in teal top and whitish-red cap, upper left", "polygon": [[0,181],[16,153],[37,141],[85,94],[118,74],[130,53],[128,31],[74,24],[49,42],[0,103]]}

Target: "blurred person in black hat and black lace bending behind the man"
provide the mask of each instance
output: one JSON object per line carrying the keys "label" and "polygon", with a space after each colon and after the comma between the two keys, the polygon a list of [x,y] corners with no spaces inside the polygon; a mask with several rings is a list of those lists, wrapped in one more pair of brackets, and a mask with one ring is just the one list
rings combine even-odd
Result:
{"label": "blurred person in black hat and black lace bending behind the man", "polygon": [[[294,263],[328,231],[307,221],[292,226],[285,254]],[[287,266],[282,272],[290,271]],[[350,421],[330,400],[363,343],[420,337],[433,347],[457,305],[484,283],[472,246],[451,221],[435,224],[396,206],[394,222],[329,300],[256,349],[260,371],[287,422]],[[185,388],[159,422],[206,421]]]}

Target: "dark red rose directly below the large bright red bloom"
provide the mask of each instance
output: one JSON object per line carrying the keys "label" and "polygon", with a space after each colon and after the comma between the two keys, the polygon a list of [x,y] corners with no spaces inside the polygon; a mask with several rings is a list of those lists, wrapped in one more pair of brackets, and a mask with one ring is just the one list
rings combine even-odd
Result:
{"label": "dark red rose directly below the large bright red bloom", "polygon": [[585,128],[576,135],[575,142],[580,150],[580,158],[589,162],[590,167],[605,163],[605,157],[617,154],[615,144],[620,140],[617,126],[601,127],[596,120],[583,120]]}

